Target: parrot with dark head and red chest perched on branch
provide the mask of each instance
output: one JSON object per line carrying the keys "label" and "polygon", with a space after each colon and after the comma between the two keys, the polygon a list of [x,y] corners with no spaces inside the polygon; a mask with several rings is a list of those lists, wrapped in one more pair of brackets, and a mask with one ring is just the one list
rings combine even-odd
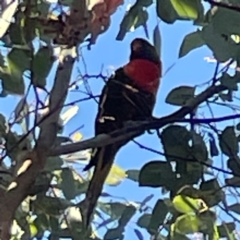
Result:
{"label": "parrot with dark head and red chest perched on branch", "polygon": [[[152,119],[161,75],[162,62],[156,48],[143,38],[135,38],[130,45],[128,63],[118,68],[103,87],[95,119],[95,135],[122,129],[128,121]],[[139,129],[138,136],[143,133]],[[132,139],[92,149],[91,160],[83,169],[88,171],[94,167],[81,207],[86,228],[91,223],[115,155],[130,140]]]}

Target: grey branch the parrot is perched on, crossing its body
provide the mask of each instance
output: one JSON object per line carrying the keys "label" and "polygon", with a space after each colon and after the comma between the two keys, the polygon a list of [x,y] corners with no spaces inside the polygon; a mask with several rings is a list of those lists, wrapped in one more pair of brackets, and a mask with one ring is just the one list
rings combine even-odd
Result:
{"label": "grey branch the parrot is perched on, crossing its body", "polygon": [[[139,133],[139,129],[142,129],[142,130],[159,129],[166,126],[167,124],[174,123],[174,122],[183,122],[183,121],[190,122],[190,120],[184,119],[184,117],[187,114],[191,113],[198,105],[200,105],[201,103],[203,103],[204,101],[212,97],[214,94],[220,93],[226,89],[227,87],[223,85],[211,86],[207,88],[205,91],[203,91],[202,93],[200,93],[195,98],[190,99],[185,106],[183,106],[173,114],[156,119],[154,121],[143,121],[143,122],[134,122],[134,124],[132,123],[126,124],[126,127],[116,130],[110,134],[100,134],[94,138],[91,138],[85,141],[59,146],[53,149],[50,152],[50,155],[59,156],[63,154],[69,154],[69,153],[85,150],[88,148],[103,147],[103,146],[113,144],[128,138],[134,138]],[[214,119],[211,119],[211,120],[214,121]],[[222,120],[222,118],[220,120]],[[191,121],[196,121],[197,123],[198,120],[193,119]],[[206,119],[202,119],[201,121],[203,123],[207,123]],[[200,123],[201,121],[199,119],[198,123]]]}

